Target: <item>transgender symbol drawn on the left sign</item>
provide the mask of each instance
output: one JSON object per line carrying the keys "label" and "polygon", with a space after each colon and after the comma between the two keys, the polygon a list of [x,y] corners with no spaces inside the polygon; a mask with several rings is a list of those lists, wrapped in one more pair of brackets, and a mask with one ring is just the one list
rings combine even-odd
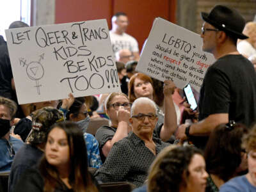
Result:
{"label": "transgender symbol drawn on the left sign", "polygon": [[40,79],[42,79],[42,77],[44,77],[44,67],[43,65],[40,63],[41,60],[44,60],[44,54],[41,54],[39,61],[32,61],[30,63],[26,63],[26,60],[24,58],[20,58],[20,65],[23,65],[22,67],[27,67],[26,68],[26,72],[27,75],[29,77],[29,79],[36,81],[36,90],[38,95],[40,95],[40,86],[42,86],[42,84],[39,84]]}

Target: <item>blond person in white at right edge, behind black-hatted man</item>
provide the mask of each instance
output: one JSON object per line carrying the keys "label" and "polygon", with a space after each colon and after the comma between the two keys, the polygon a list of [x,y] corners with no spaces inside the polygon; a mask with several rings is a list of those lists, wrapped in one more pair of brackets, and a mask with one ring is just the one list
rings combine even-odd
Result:
{"label": "blond person in white at right edge, behind black-hatted man", "polygon": [[243,34],[249,38],[237,41],[237,51],[246,58],[249,58],[253,54],[256,54],[256,22],[246,23]]}

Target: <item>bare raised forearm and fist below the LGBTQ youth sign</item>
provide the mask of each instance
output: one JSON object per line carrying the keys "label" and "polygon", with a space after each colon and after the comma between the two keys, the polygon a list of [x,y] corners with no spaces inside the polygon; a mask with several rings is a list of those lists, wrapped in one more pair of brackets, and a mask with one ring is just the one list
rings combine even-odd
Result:
{"label": "bare raised forearm and fist below the LGBTQ youth sign", "polygon": [[177,128],[177,115],[172,99],[174,90],[175,84],[172,81],[164,81],[164,125],[160,132],[163,141],[170,139]]}

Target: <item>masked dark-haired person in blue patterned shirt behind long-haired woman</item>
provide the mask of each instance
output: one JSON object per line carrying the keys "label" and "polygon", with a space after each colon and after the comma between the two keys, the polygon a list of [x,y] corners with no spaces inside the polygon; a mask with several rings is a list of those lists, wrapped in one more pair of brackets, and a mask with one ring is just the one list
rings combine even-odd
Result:
{"label": "masked dark-haired person in blue patterned shirt behind long-haired woman", "polygon": [[102,161],[100,159],[99,143],[92,134],[86,132],[90,117],[88,116],[84,97],[77,97],[74,100],[67,113],[67,120],[76,122],[83,131],[87,148],[88,166],[100,168]]}

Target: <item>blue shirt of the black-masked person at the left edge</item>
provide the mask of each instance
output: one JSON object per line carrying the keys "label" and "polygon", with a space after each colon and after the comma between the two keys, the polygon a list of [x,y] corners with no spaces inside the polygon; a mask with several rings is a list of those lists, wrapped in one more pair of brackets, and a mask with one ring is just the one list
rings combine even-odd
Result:
{"label": "blue shirt of the black-masked person at the left edge", "polygon": [[21,140],[10,136],[9,141],[0,139],[0,172],[11,170],[14,155],[18,152],[24,143]]}

